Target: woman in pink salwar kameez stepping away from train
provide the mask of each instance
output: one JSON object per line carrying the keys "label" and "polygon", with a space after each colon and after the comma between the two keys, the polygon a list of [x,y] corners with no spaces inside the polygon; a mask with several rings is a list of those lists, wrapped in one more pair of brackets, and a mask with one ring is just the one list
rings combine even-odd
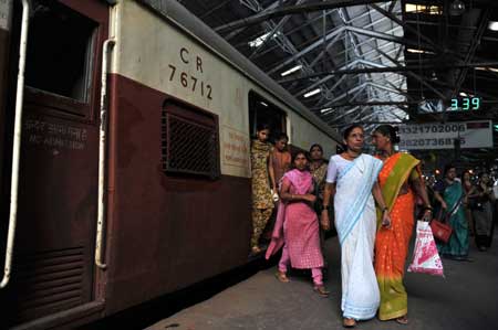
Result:
{"label": "woman in pink salwar kameez stepping away from train", "polygon": [[307,155],[298,152],[293,166],[294,169],[282,178],[281,201],[267,259],[283,247],[277,278],[280,281],[289,281],[289,266],[311,269],[314,290],[326,297],[329,292],[322,279],[323,256],[320,249],[319,221],[313,209],[317,196],[313,194],[313,178],[307,169]]}

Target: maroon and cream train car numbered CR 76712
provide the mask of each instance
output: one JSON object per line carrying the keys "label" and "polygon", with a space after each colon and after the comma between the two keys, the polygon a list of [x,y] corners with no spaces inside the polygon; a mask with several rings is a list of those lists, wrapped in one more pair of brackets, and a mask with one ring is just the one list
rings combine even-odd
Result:
{"label": "maroon and cream train car numbered CR 76712", "polygon": [[0,1],[0,84],[4,328],[246,264],[256,125],[328,156],[339,140],[177,1]]}

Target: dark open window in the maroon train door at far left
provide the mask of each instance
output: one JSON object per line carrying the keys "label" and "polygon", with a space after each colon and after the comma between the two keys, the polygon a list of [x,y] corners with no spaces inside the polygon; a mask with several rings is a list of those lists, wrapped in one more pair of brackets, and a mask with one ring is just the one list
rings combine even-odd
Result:
{"label": "dark open window in the maroon train door at far left", "polygon": [[58,1],[32,3],[25,84],[89,103],[97,24]]}

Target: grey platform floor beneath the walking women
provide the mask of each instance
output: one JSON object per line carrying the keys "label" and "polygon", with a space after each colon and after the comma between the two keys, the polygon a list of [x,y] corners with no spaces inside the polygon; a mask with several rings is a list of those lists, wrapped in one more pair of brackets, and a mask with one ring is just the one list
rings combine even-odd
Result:
{"label": "grey platform floor beneath the walking women", "polygon": [[[483,253],[471,241],[473,263],[444,259],[446,278],[408,273],[408,326],[375,318],[355,329],[498,329],[498,235],[494,243]],[[289,284],[279,283],[272,267],[147,329],[343,329],[336,237],[328,239],[326,257],[329,298],[313,292],[302,274],[295,274]]]}

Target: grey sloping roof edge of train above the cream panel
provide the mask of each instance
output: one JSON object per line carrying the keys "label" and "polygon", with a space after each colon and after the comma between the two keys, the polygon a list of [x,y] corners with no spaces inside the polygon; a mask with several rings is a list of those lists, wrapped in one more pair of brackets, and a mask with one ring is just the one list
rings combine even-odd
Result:
{"label": "grey sloping roof edge of train above the cream panel", "polygon": [[[220,56],[240,73],[246,75],[252,82],[263,89],[270,92],[280,102],[288,105],[293,111],[309,120],[321,131],[330,136],[338,142],[342,141],[340,135],[319,119],[317,115],[311,113],[295,97],[281,87],[277,82],[270,78],[259,67],[252,64],[246,56],[240,54],[227,41],[206,25],[201,20],[190,13],[185,7],[175,0],[136,0],[147,6],[158,15],[173,22],[185,32],[201,42],[206,47],[210,49],[215,54]],[[108,3],[115,4],[118,1],[107,0]]]}

